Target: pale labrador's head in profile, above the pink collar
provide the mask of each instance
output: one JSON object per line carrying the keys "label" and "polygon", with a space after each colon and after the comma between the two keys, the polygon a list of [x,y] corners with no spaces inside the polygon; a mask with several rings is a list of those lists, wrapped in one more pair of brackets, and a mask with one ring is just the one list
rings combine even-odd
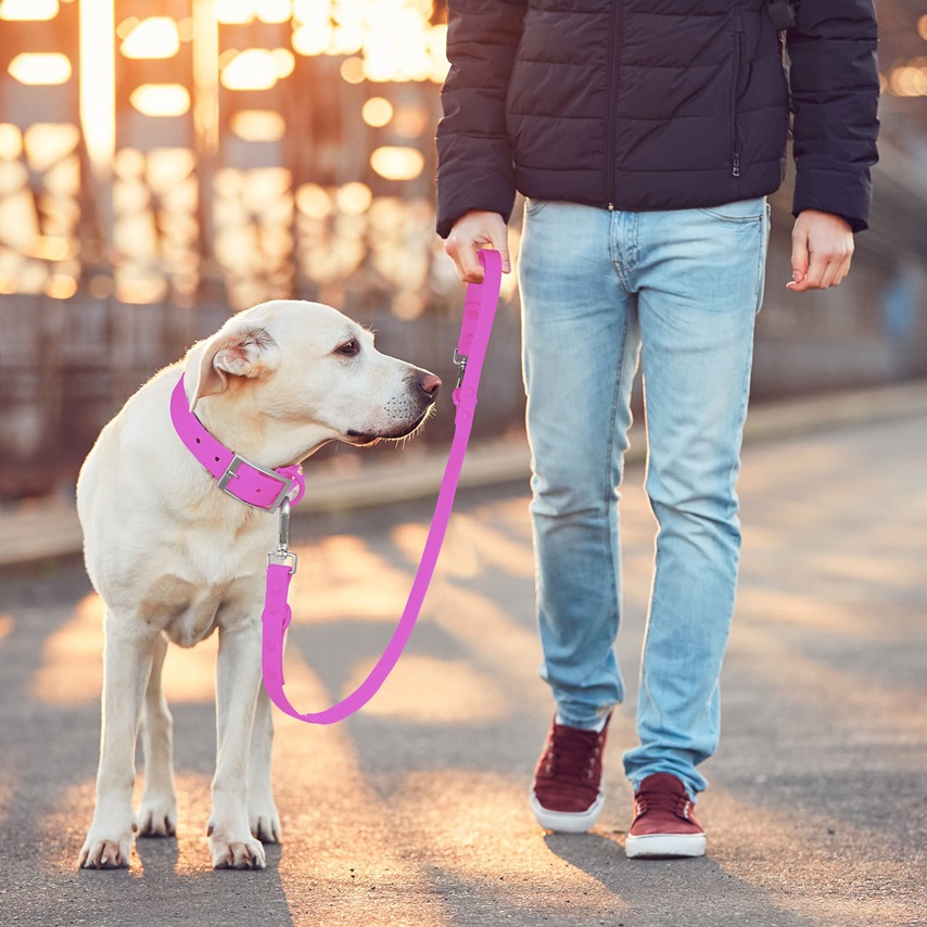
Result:
{"label": "pale labrador's head in profile, above the pink collar", "polygon": [[441,386],[433,373],[377,351],[373,335],[338,309],[295,300],[232,316],[190,350],[185,374],[191,410],[208,399],[198,410],[207,428],[231,430],[242,449],[242,427],[257,430],[287,462],[328,441],[407,437]]}

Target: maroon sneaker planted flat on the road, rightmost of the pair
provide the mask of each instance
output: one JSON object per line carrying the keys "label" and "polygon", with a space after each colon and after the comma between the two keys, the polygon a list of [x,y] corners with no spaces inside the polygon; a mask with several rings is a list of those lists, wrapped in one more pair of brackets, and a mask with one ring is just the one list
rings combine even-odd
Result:
{"label": "maroon sneaker planted flat on the road, rightmost of the pair", "polygon": [[634,823],[624,852],[635,856],[703,856],[704,829],[695,802],[670,773],[647,776],[634,793]]}

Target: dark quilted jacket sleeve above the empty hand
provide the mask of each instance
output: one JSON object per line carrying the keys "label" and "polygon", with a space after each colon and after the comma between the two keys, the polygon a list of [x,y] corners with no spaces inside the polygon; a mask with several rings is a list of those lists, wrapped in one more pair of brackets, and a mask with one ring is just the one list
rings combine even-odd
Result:
{"label": "dark quilted jacket sleeve above the empty hand", "polygon": [[877,27],[872,0],[796,0],[787,36],[795,111],[792,212],[843,216],[861,231],[878,161]]}

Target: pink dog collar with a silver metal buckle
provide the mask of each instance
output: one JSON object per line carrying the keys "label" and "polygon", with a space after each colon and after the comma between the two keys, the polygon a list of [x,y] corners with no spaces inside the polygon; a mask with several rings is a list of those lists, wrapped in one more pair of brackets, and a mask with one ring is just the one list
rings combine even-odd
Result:
{"label": "pink dog collar with a silver metal buckle", "polygon": [[300,465],[266,470],[251,464],[216,441],[193,412],[183,388],[183,376],[170,394],[170,420],[188,450],[219,481],[224,493],[265,511],[277,511],[295,486],[297,503],[305,492]]}

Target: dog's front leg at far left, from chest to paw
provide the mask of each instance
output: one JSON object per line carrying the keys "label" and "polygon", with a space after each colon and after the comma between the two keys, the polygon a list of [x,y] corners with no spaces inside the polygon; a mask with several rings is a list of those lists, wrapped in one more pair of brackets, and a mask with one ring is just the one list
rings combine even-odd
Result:
{"label": "dog's front leg at far left, from chest to paw", "polygon": [[152,638],[134,626],[131,619],[124,621],[109,609],[104,631],[97,807],[78,865],[110,869],[128,866],[132,849],[136,738],[151,672]]}

